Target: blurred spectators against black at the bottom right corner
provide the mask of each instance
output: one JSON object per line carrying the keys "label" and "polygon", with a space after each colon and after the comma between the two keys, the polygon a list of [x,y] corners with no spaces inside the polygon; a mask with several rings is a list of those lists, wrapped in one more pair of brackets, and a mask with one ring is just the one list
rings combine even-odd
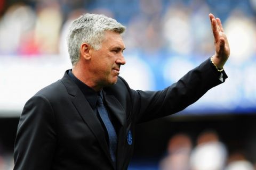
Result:
{"label": "blurred spectators against black at the bottom right corner", "polygon": [[198,135],[196,146],[188,134],[173,135],[167,154],[159,163],[161,170],[254,170],[256,163],[241,150],[229,152],[214,130]]}

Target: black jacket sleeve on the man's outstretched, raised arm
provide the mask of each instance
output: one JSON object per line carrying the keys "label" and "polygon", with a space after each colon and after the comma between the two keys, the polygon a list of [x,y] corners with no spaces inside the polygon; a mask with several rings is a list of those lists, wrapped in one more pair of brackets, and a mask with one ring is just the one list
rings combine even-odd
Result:
{"label": "black jacket sleeve on the man's outstretched, raised arm", "polygon": [[[225,82],[227,75],[225,72],[222,72],[222,75]],[[133,118],[137,123],[141,123],[177,113],[220,83],[222,81],[208,59],[164,90],[132,90]]]}

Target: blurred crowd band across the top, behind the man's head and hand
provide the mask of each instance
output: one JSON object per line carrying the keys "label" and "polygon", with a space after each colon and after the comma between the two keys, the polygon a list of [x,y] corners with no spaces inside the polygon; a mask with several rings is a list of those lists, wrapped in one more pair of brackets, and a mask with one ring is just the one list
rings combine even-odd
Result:
{"label": "blurred crowd band across the top, behind the man's head and hand", "polygon": [[70,21],[90,12],[105,14],[126,25],[124,41],[130,53],[148,58],[205,57],[214,51],[207,17],[214,13],[223,21],[232,55],[241,62],[241,57],[244,61],[256,52],[255,2],[2,0],[0,54],[29,57],[62,54],[62,50],[66,53],[65,38]]}

